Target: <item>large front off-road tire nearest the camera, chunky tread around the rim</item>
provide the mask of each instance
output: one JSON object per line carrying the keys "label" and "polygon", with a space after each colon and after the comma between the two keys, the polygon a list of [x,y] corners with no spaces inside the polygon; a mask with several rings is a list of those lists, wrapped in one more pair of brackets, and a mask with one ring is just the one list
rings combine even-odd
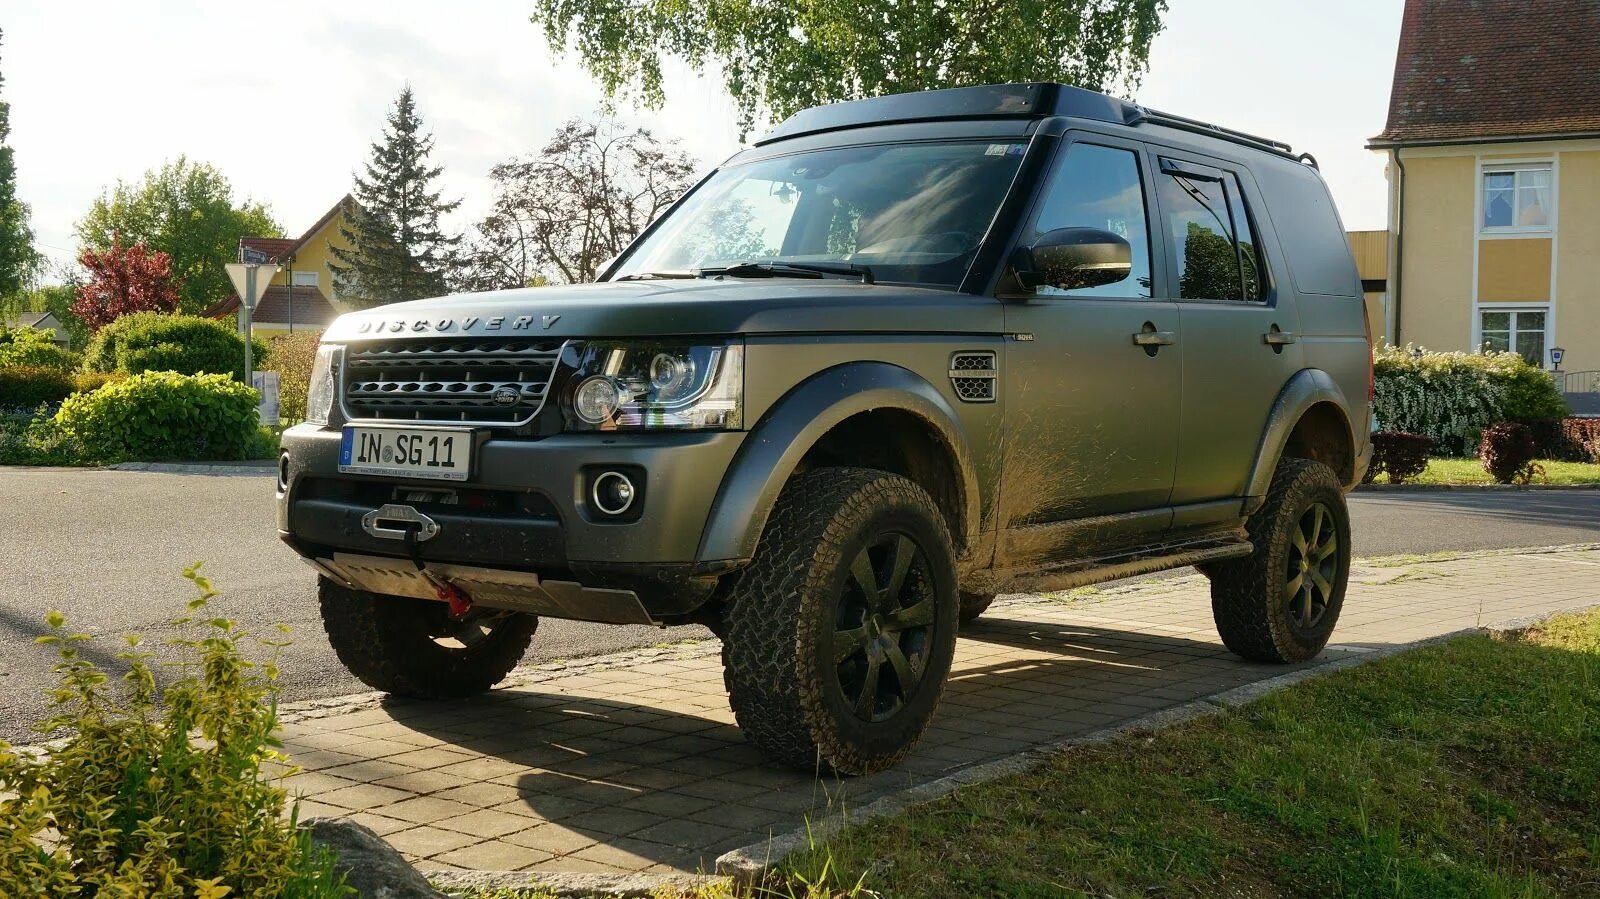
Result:
{"label": "large front off-road tire nearest the camera, chunky tread around the rim", "polygon": [[[890,718],[867,721],[843,694],[834,640],[851,563],[885,534],[910,537],[920,550],[917,577],[926,581],[918,589],[934,608],[920,680]],[[955,654],[957,614],[955,553],[926,491],[870,469],[802,473],[778,497],[755,558],[723,605],[734,718],[752,744],[795,768],[866,774],[894,765],[933,718]]]}

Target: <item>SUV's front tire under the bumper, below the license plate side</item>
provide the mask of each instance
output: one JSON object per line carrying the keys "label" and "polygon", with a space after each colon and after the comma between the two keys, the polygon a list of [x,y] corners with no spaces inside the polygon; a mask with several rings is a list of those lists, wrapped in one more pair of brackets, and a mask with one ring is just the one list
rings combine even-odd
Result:
{"label": "SUV's front tire under the bumper, below the license plate side", "polygon": [[418,699],[459,699],[494,686],[522,661],[539,619],[509,614],[470,646],[430,637],[442,601],[352,590],[322,577],[322,625],[344,667],[373,689]]}

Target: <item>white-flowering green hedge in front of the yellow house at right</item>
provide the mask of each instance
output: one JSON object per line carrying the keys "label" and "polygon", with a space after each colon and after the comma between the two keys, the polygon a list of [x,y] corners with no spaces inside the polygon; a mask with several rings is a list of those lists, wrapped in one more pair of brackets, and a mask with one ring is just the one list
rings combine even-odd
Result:
{"label": "white-flowering green hedge in front of the yellow house at right", "polygon": [[1413,352],[1373,354],[1378,426],[1430,437],[1448,456],[1470,456],[1491,424],[1558,419],[1568,411],[1549,373],[1518,354]]}

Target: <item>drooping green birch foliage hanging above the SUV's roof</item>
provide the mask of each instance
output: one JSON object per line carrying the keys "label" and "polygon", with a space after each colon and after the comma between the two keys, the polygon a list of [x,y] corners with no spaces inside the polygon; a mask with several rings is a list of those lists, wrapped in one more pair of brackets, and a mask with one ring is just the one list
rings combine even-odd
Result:
{"label": "drooping green birch foliage hanging above the SUV's roof", "polygon": [[1166,0],[534,0],[610,96],[662,101],[666,56],[722,72],[749,130],[840,99],[995,82],[1134,86]]}

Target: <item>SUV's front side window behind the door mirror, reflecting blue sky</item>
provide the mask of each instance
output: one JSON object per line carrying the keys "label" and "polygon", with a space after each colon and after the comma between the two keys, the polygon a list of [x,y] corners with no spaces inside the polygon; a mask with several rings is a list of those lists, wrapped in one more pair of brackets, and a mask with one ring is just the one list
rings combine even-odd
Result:
{"label": "SUV's front side window behind the door mirror, reflecting blue sky", "polygon": [[1093,227],[1126,238],[1133,251],[1128,277],[1093,288],[1038,288],[1042,296],[1150,296],[1150,229],[1144,216],[1139,158],[1131,150],[1072,144],[1050,179],[1034,222],[1034,243],[1062,227]]}

